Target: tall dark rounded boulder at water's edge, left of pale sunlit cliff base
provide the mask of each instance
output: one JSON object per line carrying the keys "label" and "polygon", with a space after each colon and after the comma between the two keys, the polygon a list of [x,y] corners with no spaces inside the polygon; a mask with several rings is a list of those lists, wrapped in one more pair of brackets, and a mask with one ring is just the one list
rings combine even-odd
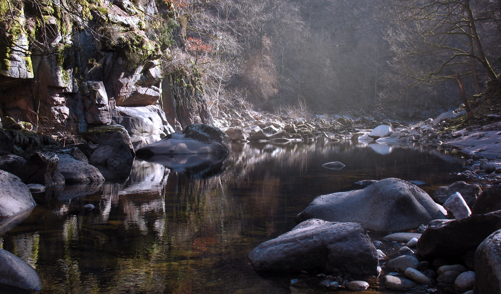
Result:
{"label": "tall dark rounded boulder at water's edge, left of pale sunlit cliff base", "polygon": [[119,124],[94,127],[83,134],[99,147],[91,154],[89,163],[96,166],[107,180],[126,179],[134,162],[134,148],[129,133]]}

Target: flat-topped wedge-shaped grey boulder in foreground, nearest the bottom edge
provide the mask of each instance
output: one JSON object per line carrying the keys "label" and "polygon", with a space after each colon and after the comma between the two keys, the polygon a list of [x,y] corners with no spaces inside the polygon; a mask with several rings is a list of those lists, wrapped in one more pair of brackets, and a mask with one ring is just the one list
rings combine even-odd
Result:
{"label": "flat-topped wedge-shaped grey boulder in foreground, nearest the bottom edge", "polygon": [[261,243],[248,258],[264,271],[378,274],[376,248],[364,228],[353,222],[306,220]]}

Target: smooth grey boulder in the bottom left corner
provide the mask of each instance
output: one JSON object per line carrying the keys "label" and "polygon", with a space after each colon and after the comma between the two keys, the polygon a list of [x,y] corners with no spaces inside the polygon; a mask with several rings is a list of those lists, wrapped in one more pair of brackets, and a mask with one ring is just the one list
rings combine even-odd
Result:
{"label": "smooth grey boulder in the bottom left corner", "polygon": [[0,249],[0,284],[30,292],[42,289],[42,279],[37,271],[23,259],[4,249]]}

